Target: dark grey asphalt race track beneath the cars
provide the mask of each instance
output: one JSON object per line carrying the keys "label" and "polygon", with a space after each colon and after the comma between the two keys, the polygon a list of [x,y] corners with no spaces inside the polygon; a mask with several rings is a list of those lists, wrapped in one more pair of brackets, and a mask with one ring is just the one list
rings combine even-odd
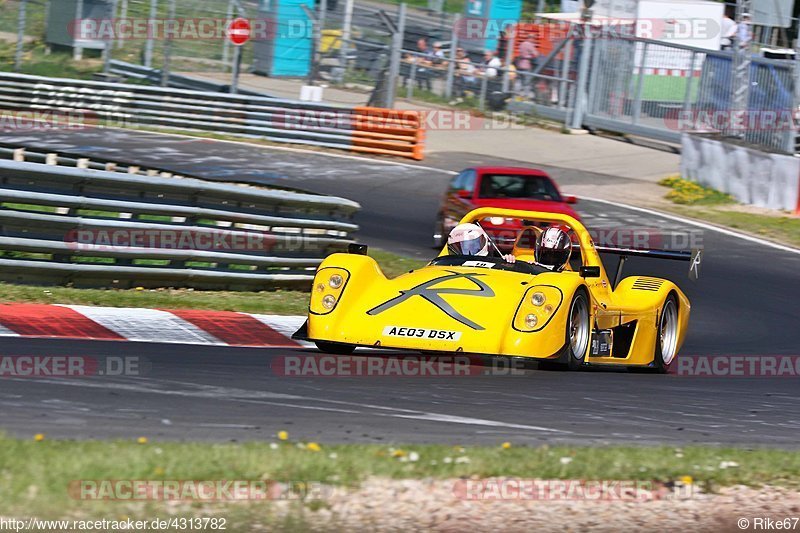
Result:
{"label": "dark grey asphalt race track beneath the cars", "polygon": [[[363,206],[370,245],[428,256],[448,174],[427,167],[273,150],[146,133],[103,131],[0,136],[0,142],[135,161],[208,179],[298,187]],[[426,165],[458,170],[468,154],[434,154]],[[572,183],[624,183],[545,167]],[[697,228],[619,206],[582,201],[590,228]],[[800,255],[714,231],[702,279],[685,265],[631,260],[627,273],[676,280],[692,300],[682,354],[795,355],[800,345]],[[272,364],[285,349],[4,339],[5,355],[144,357],[143,376],[5,379],[0,428],[63,437],[252,440],[289,429],[325,442],[723,443],[797,447],[800,387],[792,378],[689,378],[627,372],[450,378],[287,378]],[[310,353],[310,352],[309,352]]]}

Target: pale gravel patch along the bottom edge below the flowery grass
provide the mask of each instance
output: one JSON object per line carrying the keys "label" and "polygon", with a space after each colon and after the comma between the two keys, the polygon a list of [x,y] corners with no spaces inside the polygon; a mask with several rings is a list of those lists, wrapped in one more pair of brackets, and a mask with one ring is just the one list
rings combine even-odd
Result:
{"label": "pale gravel patch along the bottom edge below the flowery grass", "polygon": [[[335,491],[327,505],[307,511],[305,518],[320,531],[724,532],[741,531],[740,518],[753,528],[756,517],[800,516],[800,492],[781,487],[734,486],[714,494],[694,486],[689,493],[675,489],[680,494],[661,487],[656,498],[647,501],[474,501],[460,498],[460,491],[454,490],[464,482],[370,479],[356,490]],[[290,507],[279,502],[278,508],[282,514]],[[800,530],[800,523],[794,529]]]}

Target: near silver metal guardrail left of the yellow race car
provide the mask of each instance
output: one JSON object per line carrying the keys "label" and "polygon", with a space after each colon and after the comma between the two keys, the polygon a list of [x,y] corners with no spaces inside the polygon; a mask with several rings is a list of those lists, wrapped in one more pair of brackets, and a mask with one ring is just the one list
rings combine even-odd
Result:
{"label": "near silver metal guardrail left of the yellow race car", "polygon": [[357,203],[193,178],[0,160],[0,279],[93,287],[307,286]]}

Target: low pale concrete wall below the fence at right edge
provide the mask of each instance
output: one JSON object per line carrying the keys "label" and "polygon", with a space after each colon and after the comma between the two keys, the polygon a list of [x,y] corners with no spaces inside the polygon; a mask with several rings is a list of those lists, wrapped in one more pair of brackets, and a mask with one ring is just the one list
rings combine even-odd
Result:
{"label": "low pale concrete wall below the fence at right edge", "polygon": [[681,136],[681,175],[759,207],[796,211],[800,158],[700,135]]}

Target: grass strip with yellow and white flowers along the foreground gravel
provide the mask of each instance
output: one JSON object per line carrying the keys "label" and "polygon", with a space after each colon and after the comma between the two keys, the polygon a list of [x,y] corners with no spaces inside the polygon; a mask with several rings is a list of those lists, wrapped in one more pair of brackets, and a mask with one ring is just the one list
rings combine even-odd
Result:
{"label": "grass strip with yellow and white flowers along the foreground gravel", "polygon": [[[42,440],[43,439],[43,440]],[[170,514],[263,520],[269,503],[199,504],[85,501],[71,495],[80,480],[271,480],[291,487],[357,487],[369,478],[681,480],[722,486],[800,483],[800,454],[714,447],[461,447],[326,445],[278,441],[207,444],[132,441],[38,441],[0,437],[0,514],[42,517],[153,517]],[[305,484],[305,485],[303,485]],[[300,501],[311,510],[319,500]],[[149,514],[148,514],[149,513]]]}

